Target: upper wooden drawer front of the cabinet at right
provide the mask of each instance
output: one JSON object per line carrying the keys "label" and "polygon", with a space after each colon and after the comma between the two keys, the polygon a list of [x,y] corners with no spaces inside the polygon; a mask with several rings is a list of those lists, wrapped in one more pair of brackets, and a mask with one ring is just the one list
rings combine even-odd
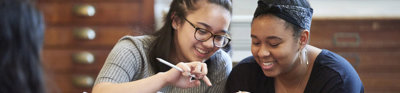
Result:
{"label": "upper wooden drawer front of the cabinet at right", "polygon": [[311,33],[310,44],[328,49],[387,49],[399,48],[400,31],[333,32],[329,30]]}

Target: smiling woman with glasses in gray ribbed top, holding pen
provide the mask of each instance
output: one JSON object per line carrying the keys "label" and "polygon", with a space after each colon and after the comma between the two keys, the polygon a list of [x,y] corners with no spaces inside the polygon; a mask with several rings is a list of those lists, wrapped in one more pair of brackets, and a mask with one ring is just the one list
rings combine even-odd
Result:
{"label": "smiling woman with glasses in gray ribbed top, holding pen", "polygon": [[232,69],[221,49],[230,42],[231,6],[231,0],[173,0],[160,30],[125,36],[114,46],[93,92],[221,93]]}

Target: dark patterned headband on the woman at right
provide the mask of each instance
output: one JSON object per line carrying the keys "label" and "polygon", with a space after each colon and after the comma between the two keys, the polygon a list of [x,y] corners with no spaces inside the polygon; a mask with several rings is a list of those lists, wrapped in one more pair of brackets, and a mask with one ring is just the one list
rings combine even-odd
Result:
{"label": "dark patterned headband on the woman at right", "polygon": [[313,14],[312,8],[294,5],[273,5],[258,1],[258,7],[253,18],[268,13],[274,14],[287,22],[310,31]]}

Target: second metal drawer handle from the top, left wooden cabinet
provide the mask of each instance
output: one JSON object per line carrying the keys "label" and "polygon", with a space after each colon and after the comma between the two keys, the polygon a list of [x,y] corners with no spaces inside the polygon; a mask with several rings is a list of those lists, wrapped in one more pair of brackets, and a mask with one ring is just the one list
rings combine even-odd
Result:
{"label": "second metal drawer handle from the top, left wooden cabinet", "polygon": [[75,29],[74,34],[76,38],[82,40],[93,40],[96,38],[96,32],[89,27]]}

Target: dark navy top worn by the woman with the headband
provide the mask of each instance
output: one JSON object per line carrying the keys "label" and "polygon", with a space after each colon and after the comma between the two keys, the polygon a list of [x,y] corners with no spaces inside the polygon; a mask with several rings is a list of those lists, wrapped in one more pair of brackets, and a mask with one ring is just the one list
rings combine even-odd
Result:
{"label": "dark navy top worn by the woman with the headband", "polygon": [[[263,74],[253,56],[233,68],[225,88],[226,93],[275,93],[274,78]],[[364,93],[364,86],[346,59],[323,49],[315,59],[304,93]]]}

